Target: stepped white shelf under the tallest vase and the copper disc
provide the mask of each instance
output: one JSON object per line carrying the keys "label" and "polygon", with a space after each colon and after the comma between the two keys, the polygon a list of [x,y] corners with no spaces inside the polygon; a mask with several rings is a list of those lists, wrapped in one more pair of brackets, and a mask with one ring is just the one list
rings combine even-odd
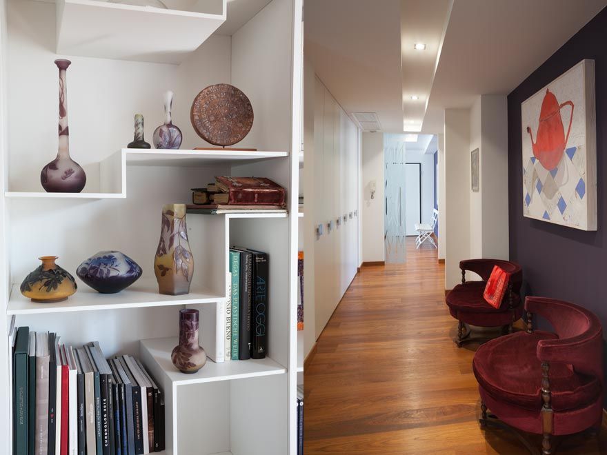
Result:
{"label": "stepped white shelf under the tallest vase and the copper disc", "polygon": [[[168,166],[195,168],[216,164],[254,163],[284,158],[288,152],[246,150],[166,150],[123,148],[99,163],[101,190],[94,193],[14,192],[4,195],[13,199],[124,199],[126,166]],[[281,216],[286,216],[281,214]]]}

